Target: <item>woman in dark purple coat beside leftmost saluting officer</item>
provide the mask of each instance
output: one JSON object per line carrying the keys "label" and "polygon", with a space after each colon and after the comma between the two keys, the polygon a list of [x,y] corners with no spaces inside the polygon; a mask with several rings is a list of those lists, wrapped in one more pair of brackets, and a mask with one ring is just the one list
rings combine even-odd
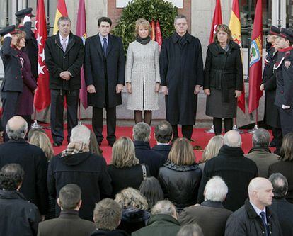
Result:
{"label": "woman in dark purple coat beside leftmost saluting officer", "polygon": [[23,92],[18,101],[17,114],[26,120],[28,128],[30,128],[31,115],[33,114],[33,94],[37,89],[37,82],[30,69],[30,59],[26,52],[22,50],[25,47],[25,32],[21,31],[17,38],[16,50],[21,60],[21,75],[23,77]]}

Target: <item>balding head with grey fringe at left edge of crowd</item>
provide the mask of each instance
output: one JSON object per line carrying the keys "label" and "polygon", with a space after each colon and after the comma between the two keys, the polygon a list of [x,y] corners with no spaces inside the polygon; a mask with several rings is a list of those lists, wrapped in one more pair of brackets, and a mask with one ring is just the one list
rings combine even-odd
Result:
{"label": "balding head with grey fringe at left edge of crowd", "polygon": [[21,116],[13,116],[8,120],[6,133],[11,140],[24,138],[28,132],[28,123]]}

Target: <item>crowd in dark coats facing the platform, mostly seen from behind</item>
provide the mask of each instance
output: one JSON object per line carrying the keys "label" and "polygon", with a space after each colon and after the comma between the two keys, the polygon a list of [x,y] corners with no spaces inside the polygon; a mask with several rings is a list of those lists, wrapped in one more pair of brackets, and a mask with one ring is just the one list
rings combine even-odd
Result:
{"label": "crowd in dark coats facing the platform, mostly seen from behind", "polygon": [[188,139],[172,143],[170,123],[156,125],[151,148],[150,126],[140,122],[132,139],[115,141],[108,165],[84,125],[57,155],[44,130],[28,133],[21,116],[8,120],[6,133],[1,235],[293,234],[293,133],[279,157],[268,130],[255,130],[248,154],[230,130],[212,137],[197,163]]}

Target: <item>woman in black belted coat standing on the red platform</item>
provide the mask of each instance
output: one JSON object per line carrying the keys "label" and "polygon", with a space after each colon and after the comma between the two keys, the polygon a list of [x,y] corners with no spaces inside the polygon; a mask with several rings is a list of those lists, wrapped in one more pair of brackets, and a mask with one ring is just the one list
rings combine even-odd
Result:
{"label": "woman in black belted coat standing on the red platform", "polygon": [[240,47],[226,25],[219,25],[214,43],[207,47],[204,91],[207,95],[207,116],[213,117],[214,133],[221,135],[222,118],[225,132],[233,128],[237,98],[243,90],[243,67]]}

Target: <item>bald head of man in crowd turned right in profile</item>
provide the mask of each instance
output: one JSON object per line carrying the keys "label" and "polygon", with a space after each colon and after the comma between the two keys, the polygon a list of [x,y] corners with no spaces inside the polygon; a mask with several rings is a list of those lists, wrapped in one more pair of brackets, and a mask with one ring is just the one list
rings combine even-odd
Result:
{"label": "bald head of man in crowd turned right in profile", "polygon": [[260,210],[272,204],[272,183],[265,178],[257,177],[248,185],[249,200]]}

